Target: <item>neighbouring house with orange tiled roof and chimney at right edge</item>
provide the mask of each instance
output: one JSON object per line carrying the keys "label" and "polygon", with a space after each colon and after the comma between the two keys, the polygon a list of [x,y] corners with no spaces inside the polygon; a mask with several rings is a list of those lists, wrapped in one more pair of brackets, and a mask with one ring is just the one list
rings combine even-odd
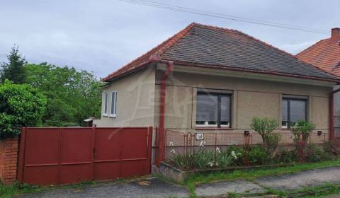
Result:
{"label": "neighbouring house with orange tiled roof and chimney at right edge", "polygon": [[[331,29],[331,37],[320,40],[306,50],[296,54],[304,62],[340,76],[340,28]],[[340,86],[334,86],[339,91]],[[336,137],[340,137],[340,93],[334,93],[334,127]]]}

